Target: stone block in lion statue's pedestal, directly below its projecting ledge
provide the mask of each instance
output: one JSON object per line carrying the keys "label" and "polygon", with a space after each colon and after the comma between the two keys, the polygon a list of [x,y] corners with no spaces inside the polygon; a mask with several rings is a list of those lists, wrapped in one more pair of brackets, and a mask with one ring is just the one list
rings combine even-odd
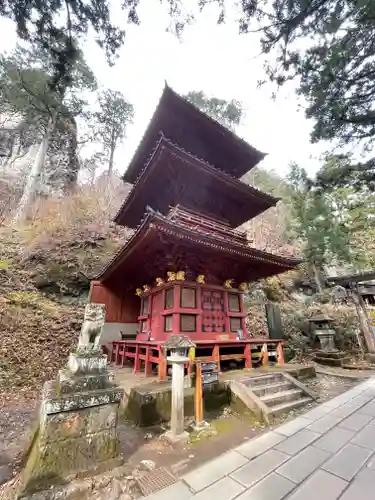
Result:
{"label": "stone block in lion statue's pedestal, directly below its projecting ledge", "polygon": [[117,425],[117,404],[108,404],[46,415],[43,420],[43,440],[62,439],[95,434]]}

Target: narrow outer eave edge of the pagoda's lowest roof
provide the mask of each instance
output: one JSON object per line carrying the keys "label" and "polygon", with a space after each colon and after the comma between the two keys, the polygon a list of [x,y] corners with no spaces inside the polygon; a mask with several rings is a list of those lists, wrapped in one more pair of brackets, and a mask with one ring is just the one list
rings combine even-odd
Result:
{"label": "narrow outer eave edge of the pagoda's lowest roof", "polygon": [[276,272],[271,272],[269,275],[280,274],[289,269],[293,269],[302,262],[301,259],[274,255],[262,250],[247,246],[245,247],[244,245],[235,243],[230,244],[227,241],[222,241],[202,232],[192,231],[185,226],[170,221],[160,214],[148,213],[142,224],[139,226],[138,230],[117,252],[113,259],[107,264],[107,266],[95,279],[99,281],[105,281],[110,278],[110,276],[113,275],[116,269],[121,266],[126,257],[136,251],[137,246],[142,242],[144,237],[151,232],[162,232],[164,234],[172,236],[173,238],[185,240],[187,242],[190,241],[193,244],[199,246],[202,245],[214,251],[249,259],[249,262],[255,261],[258,263],[276,267],[276,269],[274,269],[274,271],[276,270]]}

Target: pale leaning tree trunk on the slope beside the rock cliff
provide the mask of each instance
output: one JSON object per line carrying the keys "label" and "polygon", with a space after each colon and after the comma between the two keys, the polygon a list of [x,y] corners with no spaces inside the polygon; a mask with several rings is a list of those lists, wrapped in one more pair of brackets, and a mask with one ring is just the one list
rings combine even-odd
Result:
{"label": "pale leaning tree trunk on the slope beside the rock cliff", "polygon": [[30,208],[30,205],[32,204],[34,198],[35,198],[35,191],[36,187],[38,184],[38,179],[39,176],[43,170],[44,163],[46,160],[46,155],[47,155],[47,150],[48,150],[48,144],[49,140],[51,138],[53,129],[55,126],[55,119],[50,118],[47,124],[46,131],[44,133],[44,136],[42,138],[42,142],[40,143],[38,153],[35,157],[34,164],[30,170],[29,176],[27,178],[26,185],[23,190],[23,194],[21,196],[21,199],[18,203],[16,213],[13,217],[13,222],[21,222],[25,220],[27,216],[27,212]]}

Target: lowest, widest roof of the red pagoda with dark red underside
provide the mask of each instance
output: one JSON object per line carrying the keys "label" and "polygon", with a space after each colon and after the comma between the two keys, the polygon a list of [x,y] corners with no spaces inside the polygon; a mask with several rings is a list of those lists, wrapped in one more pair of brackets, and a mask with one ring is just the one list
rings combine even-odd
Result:
{"label": "lowest, widest roof of the red pagoda with dark red underside", "polygon": [[[241,282],[280,274],[296,267],[300,259],[274,255],[250,247],[239,236],[213,234],[202,227],[149,211],[131,238],[95,278],[122,289],[151,284],[167,271],[190,270],[204,274],[212,284],[226,279]],[[194,278],[194,276],[193,276]]]}

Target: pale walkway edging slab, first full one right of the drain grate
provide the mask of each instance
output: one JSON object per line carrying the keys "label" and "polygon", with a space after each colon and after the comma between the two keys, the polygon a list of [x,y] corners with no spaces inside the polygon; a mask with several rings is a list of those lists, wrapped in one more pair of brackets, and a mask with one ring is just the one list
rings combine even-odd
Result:
{"label": "pale walkway edging slab, first full one right of the drain grate", "polygon": [[207,462],[202,467],[189,472],[182,479],[197,492],[203,490],[203,488],[207,488],[207,486],[210,486],[247,462],[248,460],[244,456],[235,451],[230,451],[211,462]]}

